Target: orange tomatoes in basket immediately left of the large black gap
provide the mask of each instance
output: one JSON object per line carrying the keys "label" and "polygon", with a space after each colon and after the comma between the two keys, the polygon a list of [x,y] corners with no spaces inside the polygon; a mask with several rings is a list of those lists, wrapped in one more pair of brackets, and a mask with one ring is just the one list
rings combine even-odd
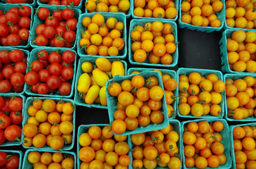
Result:
{"label": "orange tomatoes in basket immediately left of the large black gap", "polygon": [[144,26],[136,25],[131,32],[134,61],[143,63],[148,58],[149,63],[153,64],[173,63],[171,54],[176,51],[174,29],[170,23],[161,21],[146,23]]}

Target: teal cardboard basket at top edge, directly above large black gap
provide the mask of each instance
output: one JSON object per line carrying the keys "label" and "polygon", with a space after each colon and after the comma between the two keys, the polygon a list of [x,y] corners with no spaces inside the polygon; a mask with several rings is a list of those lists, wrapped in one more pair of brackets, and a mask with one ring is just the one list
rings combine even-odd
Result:
{"label": "teal cardboard basket at top edge, directly above large black gap", "polygon": [[[223,6],[225,6],[225,1],[221,0],[221,2],[223,3]],[[221,26],[220,27],[211,27],[211,26],[207,26],[207,27],[202,27],[202,26],[195,26],[192,24],[188,24],[188,23],[183,23],[181,21],[181,4],[182,4],[182,0],[180,0],[180,12],[179,12],[179,26],[181,28],[187,28],[189,30],[197,30],[197,31],[201,31],[201,32],[214,32],[214,31],[220,31],[222,29],[222,27],[224,26],[225,20],[226,20],[226,13],[224,13],[225,8],[223,7],[221,9],[221,11],[216,12],[217,18],[221,21]]]}

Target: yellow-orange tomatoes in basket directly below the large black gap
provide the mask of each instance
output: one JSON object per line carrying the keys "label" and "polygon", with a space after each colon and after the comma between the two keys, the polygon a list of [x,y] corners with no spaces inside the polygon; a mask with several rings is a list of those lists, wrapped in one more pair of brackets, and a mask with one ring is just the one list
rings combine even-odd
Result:
{"label": "yellow-orange tomatoes in basket directly below the large black gap", "polygon": [[222,101],[221,92],[226,88],[225,83],[215,74],[203,77],[197,72],[179,77],[179,112],[181,115],[199,117],[211,114],[218,116],[223,113],[219,104]]}

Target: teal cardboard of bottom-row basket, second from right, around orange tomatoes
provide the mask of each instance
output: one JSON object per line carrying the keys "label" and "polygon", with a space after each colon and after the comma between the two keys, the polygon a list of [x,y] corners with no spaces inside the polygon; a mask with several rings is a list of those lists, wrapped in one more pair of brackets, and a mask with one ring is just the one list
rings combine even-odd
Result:
{"label": "teal cardboard of bottom-row basket, second from right, around orange tomatoes", "polygon": [[[183,121],[181,123],[181,131],[182,131],[181,133],[183,134],[184,125],[187,125],[187,123],[190,123],[190,122],[198,123],[199,121],[203,121],[203,120],[205,120],[206,122],[208,122],[210,124],[214,123],[214,121],[221,121],[223,123],[223,125],[224,125],[223,130],[221,130],[221,132],[219,132],[219,134],[221,134],[221,136],[222,136],[221,144],[223,144],[224,149],[225,149],[223,154],[225,154],[225,156],[226,156],[226,163],[224,163],[223,165],[219,165],[217,167],[217,169],[219,169],[219,168],[231,168],[232,161],[231,161],[231,154],[230,154],[230,152],[231,152],[230,136],[229,136],[230,132],[229,132],[229,126],[228,126],[228,123],[226,122],[226,120],[224,120],[224,119],[200,119],[200,120]],[[180,137],[182,138],[182,136],[180,136]],[[183,161],[182,167],[184,169],[187,169],[187,167],[185,166],[185,155],[184,155],[183,139],[182,139],[181,146],[182,146],[182,161]],[[197,169],[197,167],[194,166],[192,169]],[[206,167],[206,169],[211,169],[211,168]]]}

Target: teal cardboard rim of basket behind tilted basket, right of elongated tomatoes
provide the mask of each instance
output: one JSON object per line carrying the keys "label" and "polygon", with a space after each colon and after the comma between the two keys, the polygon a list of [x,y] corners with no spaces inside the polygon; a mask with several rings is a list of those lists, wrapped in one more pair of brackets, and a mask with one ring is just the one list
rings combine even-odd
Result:
{"label": "teal cardboard rim of basket behind tilted basket, right of elongated tomatoes", "polygon": [[[127,71],[127,75],[130,75],[134,71],[142,72],[142,71],[145,71],[145,70],[156,70],[156,69],[153,69],[153,68],[129,68],[129,70]],[[165,74],[170,75],[170,77],[172,77],[173,79],[176,80],[176,82],[178,82],[178,76],[176,75],[176,72],[174,70],[168,70],[168,69],[157,69],[157,70],[160,70],[163,75],[165,75]],[[178,86],[173,91],[173,94],[175,94],[177,90],[178,90]],[[177,105],[178,105],[178,101],[174,100],[173,104],[171,104],[171,106],[173,106],[174,111],[177,110]],[[173,119],[175,117],[176,117],[176,112],[175,112],[175,115],[173,115],[169,119]]]}

